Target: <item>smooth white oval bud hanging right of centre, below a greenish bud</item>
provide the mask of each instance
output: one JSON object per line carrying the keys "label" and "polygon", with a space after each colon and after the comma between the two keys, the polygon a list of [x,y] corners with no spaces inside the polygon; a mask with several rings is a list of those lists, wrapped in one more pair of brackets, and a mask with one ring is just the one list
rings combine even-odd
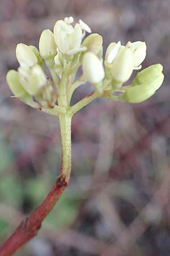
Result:
{"label": "smooth white oval bud hanging right of centre, below a greenish bud", "polygon": [[82,61],[83,76],[92,84],[104,79],[104,68],[99,58],[92,52],[86,52]]}

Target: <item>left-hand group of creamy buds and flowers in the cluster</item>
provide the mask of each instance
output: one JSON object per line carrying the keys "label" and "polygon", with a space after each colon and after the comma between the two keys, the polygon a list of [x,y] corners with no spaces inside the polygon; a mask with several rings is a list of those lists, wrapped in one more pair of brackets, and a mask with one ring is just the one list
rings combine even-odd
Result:
{"label": "left-hand group of creamy buds and flowers in the cluster", "polygon": [[20,43],[16,47],[16,58],[20,64],[18,72],[11,70],[7,73],[7,82],[14,96],[34,108],[53,108],[57,91],[44,73],[37,48]]}

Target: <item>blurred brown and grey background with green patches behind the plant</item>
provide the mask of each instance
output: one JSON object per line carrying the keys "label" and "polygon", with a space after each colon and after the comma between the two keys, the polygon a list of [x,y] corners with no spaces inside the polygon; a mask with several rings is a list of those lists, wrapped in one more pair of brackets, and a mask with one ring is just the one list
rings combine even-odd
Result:
{"label": "blurred brown and grey background with green patches behind the plant", "polygon": [[18,68],[17,43],[38,46],[42,30],[70,15],[103,36],[104,51],[145,41],[143,68],[163,64],[165,80],[142,104],[100,99],[75,115],[69,188],[15,255],[169,255],[169,0],[0,1],[0,241],[41,203],[61,162],[57,119],[10,98],[6,72]]}

